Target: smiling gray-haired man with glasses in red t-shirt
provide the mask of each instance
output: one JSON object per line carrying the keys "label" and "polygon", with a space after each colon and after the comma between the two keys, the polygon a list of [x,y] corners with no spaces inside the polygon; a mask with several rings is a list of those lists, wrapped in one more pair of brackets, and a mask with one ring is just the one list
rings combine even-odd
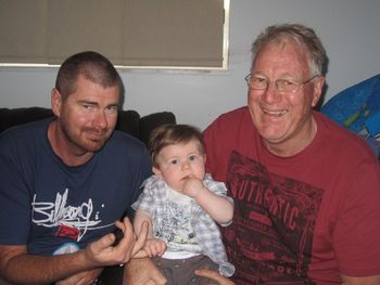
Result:
{"label": "smiling gray-haired man with glasses in red t-shirt", "polygon": [[248,106],[204,132],[207,170],[235,200],[237,284],[380,284],[380,170],[367,143],[313,111],[325,49],[303,25],[253,43]]}

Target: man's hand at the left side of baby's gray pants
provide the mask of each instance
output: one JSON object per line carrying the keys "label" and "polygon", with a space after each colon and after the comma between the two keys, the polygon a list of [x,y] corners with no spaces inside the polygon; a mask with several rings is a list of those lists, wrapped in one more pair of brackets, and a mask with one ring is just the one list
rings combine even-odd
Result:
{"label": "man's hand at the left side of baby's gray pants", "polygon": [[134,258],[124,271],[123,285],[165,285],[166,278],[149,258]]}

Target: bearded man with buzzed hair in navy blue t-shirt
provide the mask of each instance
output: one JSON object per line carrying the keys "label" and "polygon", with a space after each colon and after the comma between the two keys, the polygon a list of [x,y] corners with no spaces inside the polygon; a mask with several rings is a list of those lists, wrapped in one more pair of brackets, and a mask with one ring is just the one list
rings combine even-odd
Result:
{"label": "bearded man with buzzed hair in navy blue t-shirt", "polygon": [[[136,241],[128,207],[151,174],[138,140],[114,131],[123,83],[96,52],[68,57],[51,94],[53,119],[0,137],[0,280],[92,284],[127,262]],[[124,237],[113,245],[115,228]],[[1,281],[0,281],[1,282]]]}

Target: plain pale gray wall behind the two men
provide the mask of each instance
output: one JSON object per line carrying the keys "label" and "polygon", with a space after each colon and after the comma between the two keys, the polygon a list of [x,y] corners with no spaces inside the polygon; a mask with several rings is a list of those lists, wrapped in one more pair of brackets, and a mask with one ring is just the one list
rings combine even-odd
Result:
{"label": "plain pale gray wall behind the two men", "polygon": [[[142,115],[169,109],[178,121],[204,128],[221,112],[244,105],[251,42],[274,23],[301,22],[319,34],[330,57],[327,99],[380,73],[378,0],[231,0],[230,9],[228,72],[122,70],[124,108]],[[55,73],[0,68],[0,106],[50,106]]]}

